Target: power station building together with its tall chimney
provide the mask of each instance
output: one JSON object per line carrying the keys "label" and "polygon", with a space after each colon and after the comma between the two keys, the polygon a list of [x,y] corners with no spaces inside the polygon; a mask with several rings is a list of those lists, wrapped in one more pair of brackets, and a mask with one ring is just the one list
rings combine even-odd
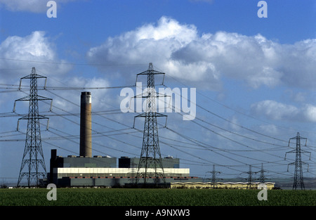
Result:
{"label": "power station building together with its tall chimney", "polygon": [[[92,156],[91,141],[91,93],[81,93],[81,115],[80,115],[80,147],[79,156],[68,155],[62,157],[57,155],[57,150],[51,150],[50,172],[48,179],[56,186],[125,186],[136,182],[137,172],[145,172],[145,168],[138,170],[140,158],[137,157],[109,157]],[[195,182],[202,181],[198,177],[190,176],[190,169],[180,168],[180,160],[173,157],[162,158],[162,168],[148,167],[147,173],[162,174],[156,177],[147,176],[152,182],[158,184],[172,182]],[[138,183],[142,183],[140,179]],[[147,181],[150,183],[150,181]]]}

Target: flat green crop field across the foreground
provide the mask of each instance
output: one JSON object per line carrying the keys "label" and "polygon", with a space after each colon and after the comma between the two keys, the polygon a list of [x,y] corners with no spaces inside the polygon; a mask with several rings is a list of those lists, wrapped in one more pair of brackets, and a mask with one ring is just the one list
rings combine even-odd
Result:
{"label": "flat green crop field across the foreground", "polygon": [[0,189],[1,206],[315,206],[316,190],[57,188],[57,200],[47,200],[45,188]]}

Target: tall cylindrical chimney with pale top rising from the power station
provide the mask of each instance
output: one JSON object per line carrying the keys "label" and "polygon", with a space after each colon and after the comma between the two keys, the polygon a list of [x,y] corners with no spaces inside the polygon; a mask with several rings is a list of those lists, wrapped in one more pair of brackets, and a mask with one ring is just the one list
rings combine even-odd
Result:
{"label": "tall cylindrical chimney with pale top rising from the power station", "polygon": [[81,92],[80,156],[91,157],[91,92]]}

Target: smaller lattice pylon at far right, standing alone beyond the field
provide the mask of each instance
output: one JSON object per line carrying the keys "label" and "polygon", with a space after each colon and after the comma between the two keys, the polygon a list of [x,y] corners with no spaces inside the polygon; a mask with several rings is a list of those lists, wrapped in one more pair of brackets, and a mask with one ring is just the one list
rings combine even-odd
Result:
{"label": "smaller lattice pylon at far right, standing alone beyond the field", "polygon": [[[300,136],[299,132],[297,132],[296,137],[289,139],[289,144],[291,140],[296,140],[296,148],[295,150],[291,150],[287,153],[295,153],[295,162],[291,162],[287,165],[287,172],[289,172],[289,165],[295,165],[295,171],[294,171],[294,183],[293,183],[293,189],[296,190],[297,188],[301,187],[301,190],[305,189],[304,186],[304,179],[303,179],[303,164],[307,164],[305,162],[302,162],[301,153],[310,153],[305,150],[301,150],[301,140],[305,140],[305,146],[307,143],[307,138],[303,138]],[[285,153],[284,160],[287,159],[287,153]]]}

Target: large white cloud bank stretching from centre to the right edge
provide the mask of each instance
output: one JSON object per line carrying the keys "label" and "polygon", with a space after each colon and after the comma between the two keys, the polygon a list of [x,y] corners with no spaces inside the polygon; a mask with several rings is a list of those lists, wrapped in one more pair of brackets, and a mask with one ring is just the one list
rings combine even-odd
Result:
{"label": "large white cloud bank stretching from centre to the right edge", "polygon": [[[315,87],[316,39],[279,44],[261,34],[199,34],[195,25],[162,17],[87,52],[90,63],[154,63],[168,75],[208,89],[220,89],[223,77],[259,86]],[[100,67],[107,68],[107,67]]]}

